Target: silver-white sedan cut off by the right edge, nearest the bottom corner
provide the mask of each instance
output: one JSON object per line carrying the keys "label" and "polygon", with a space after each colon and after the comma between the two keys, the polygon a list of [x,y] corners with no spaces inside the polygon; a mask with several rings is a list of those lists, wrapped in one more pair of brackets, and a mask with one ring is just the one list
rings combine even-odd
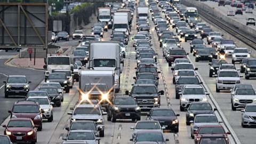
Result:
{"label": "silver-white sedan cut off by the right edge, nearest the bottom corner", "polygon": [[242,111],[242,127],[256,125],[256,104],[247,103]]}

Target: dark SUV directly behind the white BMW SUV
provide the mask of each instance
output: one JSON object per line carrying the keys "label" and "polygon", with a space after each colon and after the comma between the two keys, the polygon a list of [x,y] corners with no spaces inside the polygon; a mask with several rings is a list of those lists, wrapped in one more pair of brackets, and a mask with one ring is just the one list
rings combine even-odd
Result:
{"label": "dark SUV directly behind the white BMW SUV", "polygon": [[197,76],[180,76],[177,82],[174,82],[174,83],[175,83],[175,99],[180,98],[179,92],[181,92],[182,87],[184,85],[202,84],[202,82],[199,82],[199,79],[197,78]]}

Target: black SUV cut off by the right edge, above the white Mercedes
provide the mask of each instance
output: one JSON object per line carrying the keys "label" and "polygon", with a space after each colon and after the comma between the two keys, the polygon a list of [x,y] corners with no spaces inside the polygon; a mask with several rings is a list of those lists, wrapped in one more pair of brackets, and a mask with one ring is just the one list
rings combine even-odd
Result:
{"label": "black SUV cut off by the right edge, above the white Mercedes", "polygon": [[249,59],[246,63],[245,79],[256,77],[256,59]]}

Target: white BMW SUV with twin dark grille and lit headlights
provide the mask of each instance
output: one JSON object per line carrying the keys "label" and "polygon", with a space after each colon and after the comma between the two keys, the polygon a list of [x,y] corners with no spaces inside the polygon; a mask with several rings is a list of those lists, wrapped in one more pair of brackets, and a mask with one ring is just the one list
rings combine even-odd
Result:
{"label": "white BMW SUV with twin dark grille and lit headlights", "polygon": [[180,94],[180,111],[184,111],[185,108],[188,108],[191,102],[207,102],[208,99],[204,88],[201,85],[185,85]]}

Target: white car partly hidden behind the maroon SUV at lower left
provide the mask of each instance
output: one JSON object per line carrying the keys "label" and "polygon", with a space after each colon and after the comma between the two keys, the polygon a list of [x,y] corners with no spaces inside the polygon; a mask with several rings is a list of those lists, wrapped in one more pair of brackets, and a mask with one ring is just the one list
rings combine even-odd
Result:
{"label": "white car partly hidden behind the maroon SUV at lower left", "polygon": [[27,101],[37,101],[40,108],[44,110],[43,119],[47,119],[48,122],[53,121],[53,102],[49,100],[47,96],[31,96],[27,98]]}

